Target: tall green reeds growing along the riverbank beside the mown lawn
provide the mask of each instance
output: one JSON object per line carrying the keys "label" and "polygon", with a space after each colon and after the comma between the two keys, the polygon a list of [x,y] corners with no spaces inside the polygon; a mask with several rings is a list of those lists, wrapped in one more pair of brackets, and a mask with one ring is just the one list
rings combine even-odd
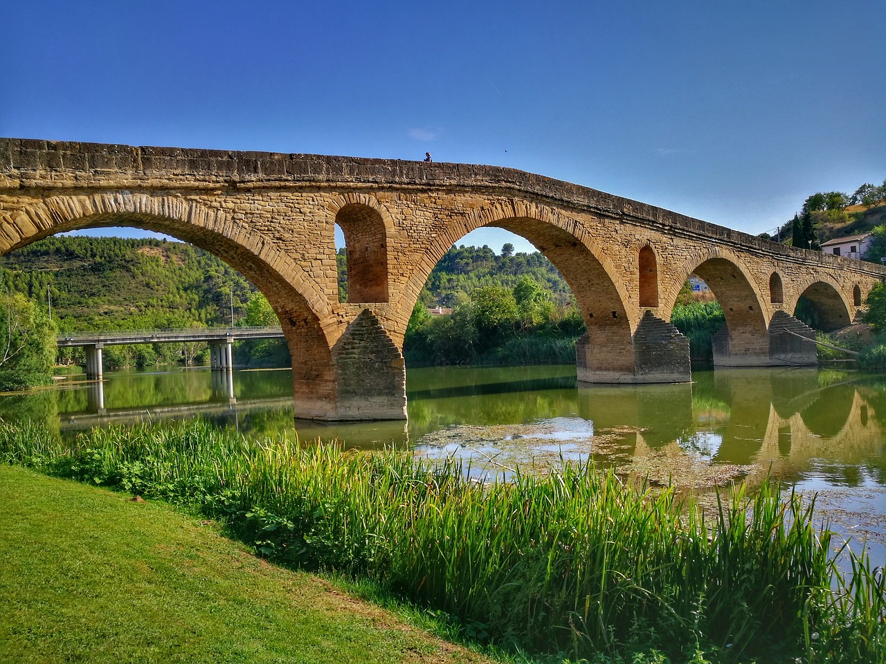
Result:
{"label": "tall green reeds growing along the riverbank beside the mown lawn", "polygon": [[269,558],[373,578],[536,652],[614,653],[638,635],[724,659],[886,652],[882,570],[862,555],[838,575],[812,505],[775,486],[736,490],[711,515],[589,467],[480,484],[457,462],[253,444],[201,422],[70,444],[2,427],[0,460],[190,505]]}

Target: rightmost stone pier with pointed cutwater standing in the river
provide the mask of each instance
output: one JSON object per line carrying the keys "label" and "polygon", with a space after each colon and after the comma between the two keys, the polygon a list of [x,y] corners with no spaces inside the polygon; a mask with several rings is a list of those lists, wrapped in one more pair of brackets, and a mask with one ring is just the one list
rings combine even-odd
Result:
{"label": "rightmost stone pier with pointed cutwater standing in the river", "polygon": [[774,313],[765,331],[730,335],[726,326],[713,337],[714,367],[813,367],[818,364],[815,330],[788,313]]}

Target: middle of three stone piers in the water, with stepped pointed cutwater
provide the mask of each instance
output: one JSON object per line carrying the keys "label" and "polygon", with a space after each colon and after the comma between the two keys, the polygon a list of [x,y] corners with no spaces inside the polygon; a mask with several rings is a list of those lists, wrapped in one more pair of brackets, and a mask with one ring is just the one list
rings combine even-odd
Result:
{"label": "middle of three stone piers in the water, with stepped pointed cutwater", "polygon": [[[610,334],[606,334],[609,331]],[[689,382],[689,340],[680,330],[647,311],[630,344],[614,328],[588,328],[575,344],[579,382]]]}

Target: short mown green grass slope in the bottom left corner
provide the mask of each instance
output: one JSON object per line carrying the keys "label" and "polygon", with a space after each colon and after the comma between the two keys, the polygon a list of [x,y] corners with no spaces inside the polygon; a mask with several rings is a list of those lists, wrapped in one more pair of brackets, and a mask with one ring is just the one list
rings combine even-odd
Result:
{"label": "short mown green grass slope in the bottom left corner", "polygon": [[165,506],[0,466],[0,662],[483,658]]}

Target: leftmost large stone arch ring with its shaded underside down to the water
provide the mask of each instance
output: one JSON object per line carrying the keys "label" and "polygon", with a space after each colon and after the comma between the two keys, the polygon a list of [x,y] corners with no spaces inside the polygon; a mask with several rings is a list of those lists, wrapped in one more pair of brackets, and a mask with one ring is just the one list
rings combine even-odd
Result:
{"label": "leftmost large stone arch ring with its shaded underside down to the water", "polygon": [[338,381],[330,347],[338,320],[304,269],[243,221],[183,197],[130,192],[47,197],[0,216],[0,253],[79,228],[144,228],[194,244],[224,260],[268,297],[293,359],[295,413],[330,417]]}

